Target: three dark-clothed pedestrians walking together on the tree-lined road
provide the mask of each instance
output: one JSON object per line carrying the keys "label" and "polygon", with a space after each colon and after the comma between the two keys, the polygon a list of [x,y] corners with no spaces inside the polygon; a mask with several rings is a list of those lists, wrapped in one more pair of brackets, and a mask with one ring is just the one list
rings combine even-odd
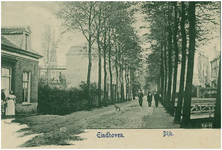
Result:
{"label": "three dark-clothed pedestrians walking together on the tree-lined road", "polygon": [[[139,92],[139,105],[142,107],[142,104],[143,104],[143,92],[142,90],[140,90]],[[158,103],[159,103],[159,100],[160,100],[160,95],[155,92],[154,94],[148,92],[147,94],[147,102],[148,102],[148,106],[151,107],[151,104],[152,104],[152,99],[154,97],[154,100],[155,100],[155,106],[158,107]]]}

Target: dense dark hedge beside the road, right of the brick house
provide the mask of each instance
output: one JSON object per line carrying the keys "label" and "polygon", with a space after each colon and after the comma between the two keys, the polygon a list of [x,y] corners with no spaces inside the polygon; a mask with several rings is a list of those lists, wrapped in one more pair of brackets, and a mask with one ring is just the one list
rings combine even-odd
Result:
{"label": "dense dark hedge beside the road, right of the brick house", "polygon": [[[90,85],[90,99],[92,107],[96,107],[97,87],[95,83]],[[79,88],[59,88],[43,82],[38,88],[38,114],[65,115],[71,112],[86,110],[87,85],[81,82]]]}

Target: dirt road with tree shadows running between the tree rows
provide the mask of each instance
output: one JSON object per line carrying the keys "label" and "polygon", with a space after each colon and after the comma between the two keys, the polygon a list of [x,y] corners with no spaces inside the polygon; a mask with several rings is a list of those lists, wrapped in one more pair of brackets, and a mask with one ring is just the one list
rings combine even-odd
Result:
{"label": "dirt road with tree shadows running between the tree rows", "polygon": [[[58,143],[75,143],[77,141],[70,139],[70,136],[78,134],[80,130],[87,129],[152,129],[157,127],[156,123],[159,123],[159,127],[164,128],[168,125],[170,128],[174,128],[169,116],[164,116],[166,117],[165,122],[161,121],[161,115],[165,114],[163,108],[155,108],[154,101],[152,107],[148,107],[146,97],[144,97],[142,107],[139,106],[138,99],[116,105],[120,107],[120,111],[111,105],[92,111],[74,112],[65,116],[40,115],[22,118],[23,123],[28,126],[11,123],[10,120],[2,120],[2,131],[6,131],[2,134],[2,148],[15,148],[19,145],[42,147]],[[158,114],[159,121],[155,121],[153,112]],[[166,120],[169,120],[170,123]],[[24,128],[29,128],[29,130],[24,130],[29,134],[21,132]],[[67,130],[64,137],[64,134],[61,136],[60,128]],[[84,137],[84,133],[80,134],[80,137]],[[57,141],[54,140],[55,138]]]}

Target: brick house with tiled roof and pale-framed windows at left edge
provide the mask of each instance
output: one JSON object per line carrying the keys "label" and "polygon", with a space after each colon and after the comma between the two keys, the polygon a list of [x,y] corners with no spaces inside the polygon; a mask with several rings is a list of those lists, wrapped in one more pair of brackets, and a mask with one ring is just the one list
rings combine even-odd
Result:
{"label": "brick house with tiled roof and pale-framed windows at left edge", "polygon": [[35,113],[38,101],[38,60],[29,27],[1,28],[1,89],[14,91],[16,113]]}

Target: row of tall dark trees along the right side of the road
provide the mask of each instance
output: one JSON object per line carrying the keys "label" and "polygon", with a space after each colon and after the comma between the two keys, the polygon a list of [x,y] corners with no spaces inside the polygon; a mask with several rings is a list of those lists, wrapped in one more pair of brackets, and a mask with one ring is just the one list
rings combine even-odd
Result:
{"label": "row of tall dark trees along the right side of the road", "polygon": [[[193,86],[194,55],[196,48],[206,42],[209,30],[206,23],[214,26],[219,22],[219,2],[144,2],[143,13],[149,23],[152,53],[148,56],[148,82],[160,85],[162,103],[166,110],[174,114],[177,74],[180,71],[179,94],[175,123],[188,127]],[[219,21],[219,20],[218,20]],[[181,63],[181,70],[178,70]],[[155,68],[155,69],[154,69]]]}

